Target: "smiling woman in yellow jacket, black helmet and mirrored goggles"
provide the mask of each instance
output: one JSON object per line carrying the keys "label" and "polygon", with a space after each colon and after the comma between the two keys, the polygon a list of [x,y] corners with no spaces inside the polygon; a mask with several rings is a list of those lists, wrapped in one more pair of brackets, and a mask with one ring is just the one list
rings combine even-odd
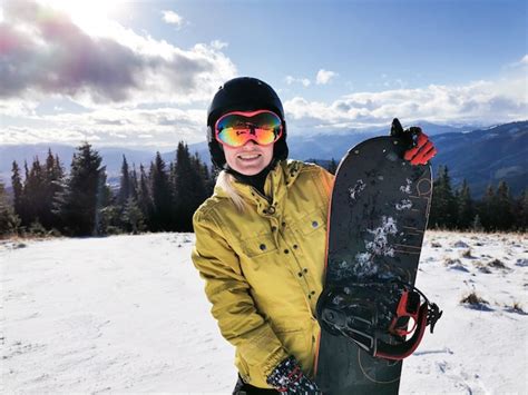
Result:
{"label": "smiling woman in yellow jacket, black helmet and mirrored goggles", "polygon": [[[236,347],[234,394],[320,394],[313,381],[326,219],[333,176],[287,159],[282,102],[264,81],[225,82],[207,111],[207,140],[221,169],[193,218],[192,258],[222,335]],[[405,154],[436,150],[421,134]]]}

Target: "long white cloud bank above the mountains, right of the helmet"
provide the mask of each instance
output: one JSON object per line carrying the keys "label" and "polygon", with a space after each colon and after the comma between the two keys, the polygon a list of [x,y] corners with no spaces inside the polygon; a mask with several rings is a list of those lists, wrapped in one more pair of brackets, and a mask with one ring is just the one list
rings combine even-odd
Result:
{"label": "long white cloud bank above the mountains, right of the helmet", "polygon": [[430,85],[417,89],[358,92],[333,102],[296,97],[284,103],[290,125],[303,130],[383,126],[399,117],[405,124],[492,124],[526,119],[526,78],[510,76],[465,86]]}

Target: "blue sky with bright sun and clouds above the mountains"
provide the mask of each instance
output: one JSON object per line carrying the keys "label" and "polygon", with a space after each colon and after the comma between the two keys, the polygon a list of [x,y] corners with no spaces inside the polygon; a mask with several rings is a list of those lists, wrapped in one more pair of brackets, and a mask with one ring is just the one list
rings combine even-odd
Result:
{"label": "blue sky with bright sun and clouds above the mountains", "polygon": [[516,0],[0,0],[0,145],[204,141],[238,76],[296,136],[525,120],[526,20]]}

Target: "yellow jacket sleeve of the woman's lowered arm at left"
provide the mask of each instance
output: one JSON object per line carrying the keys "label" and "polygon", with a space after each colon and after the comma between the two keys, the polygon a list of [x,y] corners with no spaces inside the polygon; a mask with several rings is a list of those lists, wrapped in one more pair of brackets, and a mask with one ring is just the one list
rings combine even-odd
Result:
{"label": "yellow jacket sleeve of the woman's lowered arm at left", "polygon": [[256,310],[238,261],[221,227],[197,211],[193,218],[196,245],[193,263],[205,280],[224,338],[237,347],[242,358],[261,372],[262,381],[289,355],[268,323]]}

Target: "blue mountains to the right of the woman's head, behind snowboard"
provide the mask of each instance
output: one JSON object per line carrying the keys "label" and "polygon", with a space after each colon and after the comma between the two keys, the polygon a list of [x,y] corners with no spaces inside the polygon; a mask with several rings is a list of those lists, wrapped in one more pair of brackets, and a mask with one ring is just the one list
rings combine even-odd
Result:
{"label": "blue mountains to the right of the woman's head, behind snowboard", "polygon": [[[528,187],[528,121],[499,125],[468,131],[463,127],[441,127],[418,122],[438,148],[432,160],[433,174],[440,165],[448,166],[453,187],[466,178],[473,198],[480,198],[488,185],[508,182],[518,196]],[[438,131],[443,132],[437,134]],[[331,158],[340,160],[356,144],[388,130],[351,135],[321,135],[313,138],[292,137],[292,158],[312,159],[324,165]]]}

